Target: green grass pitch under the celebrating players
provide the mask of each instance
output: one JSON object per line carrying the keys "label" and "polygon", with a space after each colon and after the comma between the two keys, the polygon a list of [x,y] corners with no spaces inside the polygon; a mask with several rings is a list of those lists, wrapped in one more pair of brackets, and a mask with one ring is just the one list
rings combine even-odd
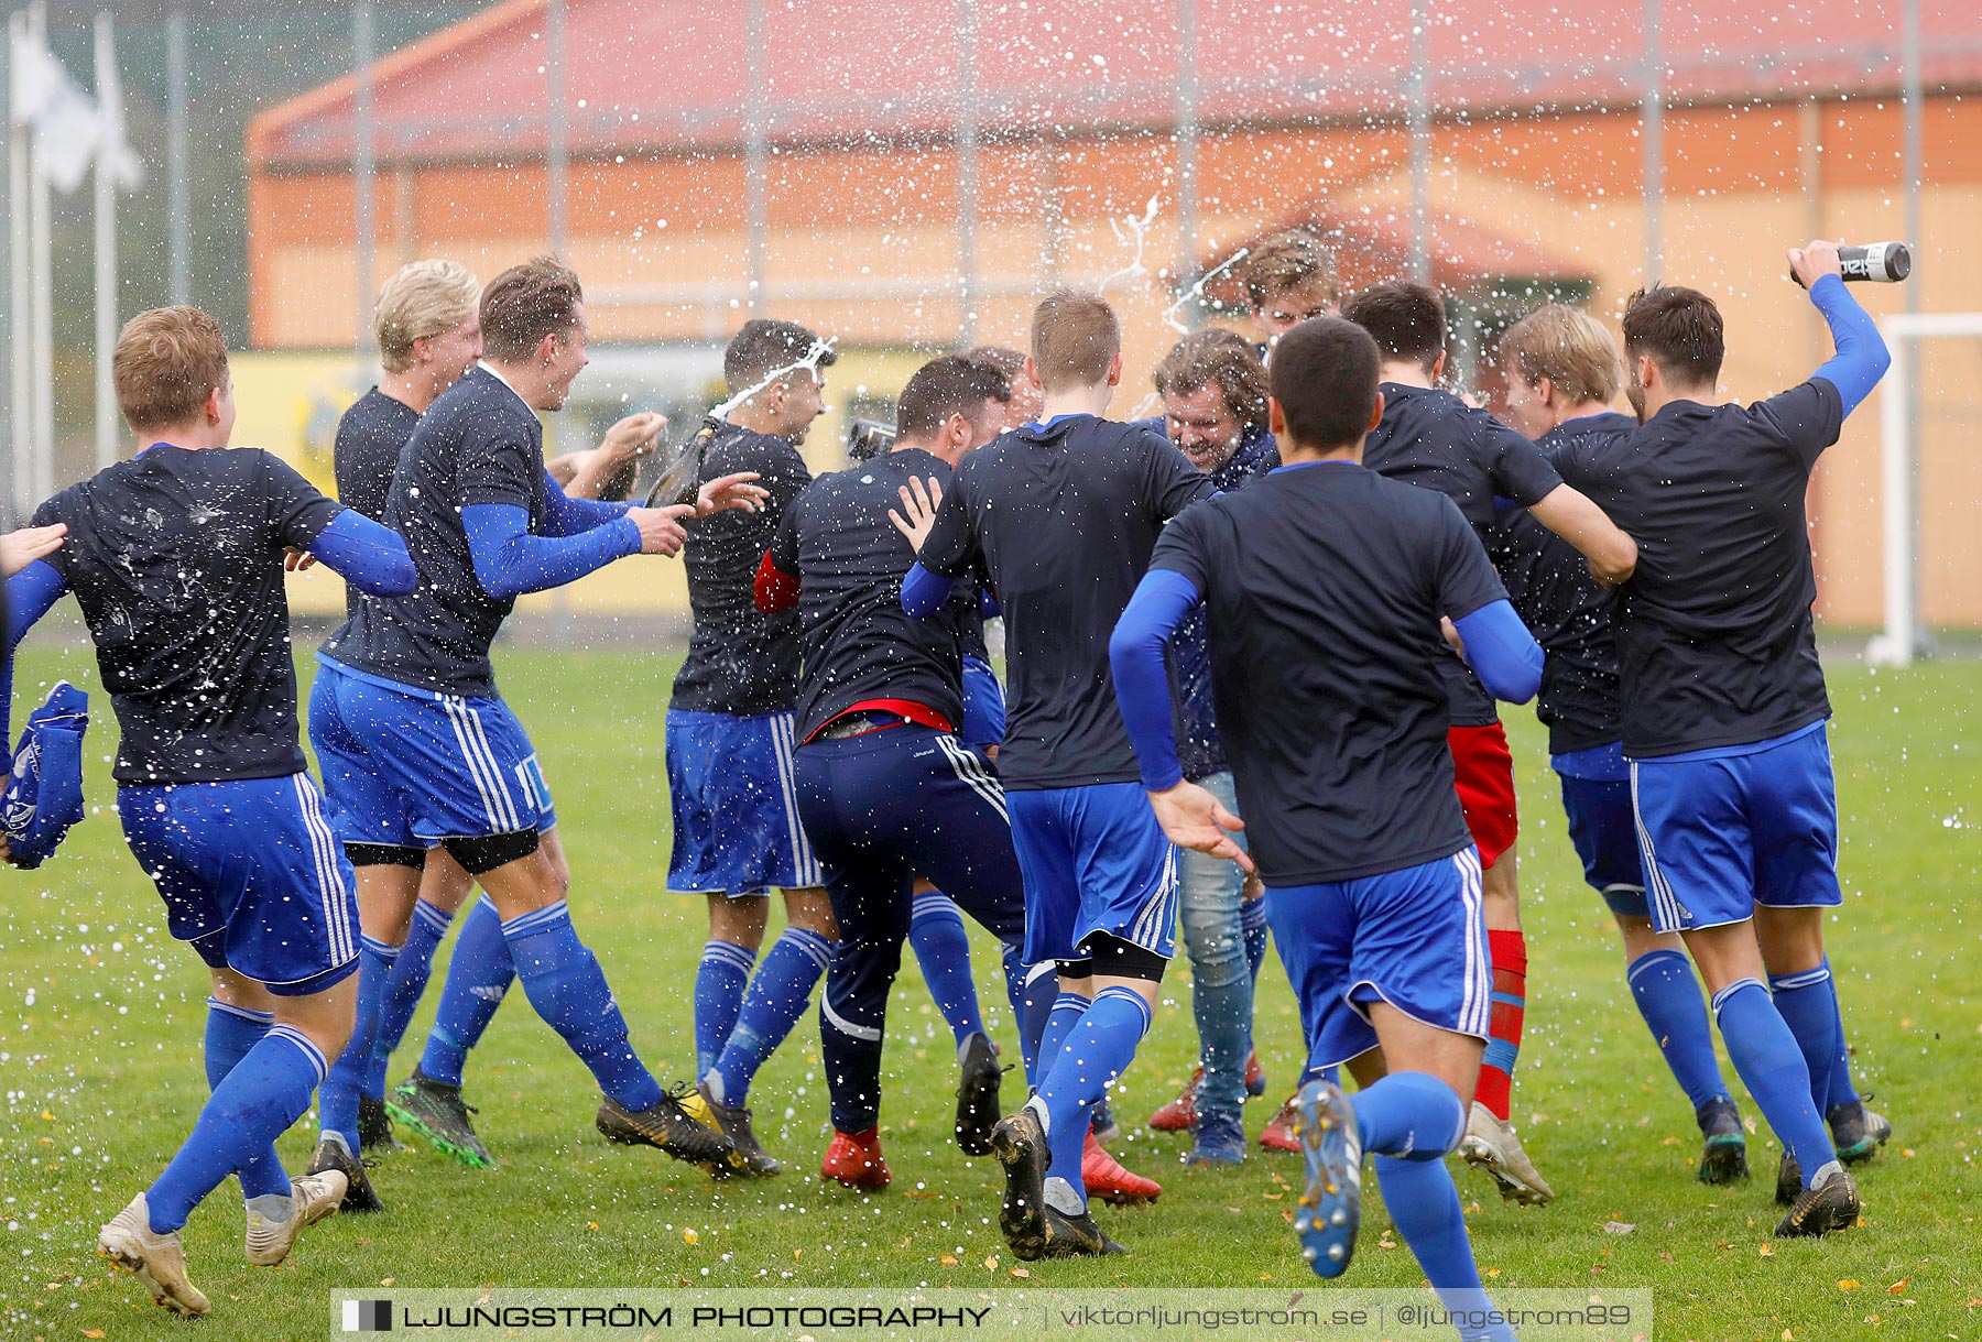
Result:
{"label": "green grass pitch under the celebrating players", "polygon": [[[682,1078],[694,1062],[690,985],[706,924],[700,898],[662,888],[660,741],[674,662],[523,648],[505,648],[499,660],[557,793],[577,924],[638,1049],[658,1074]],[[95,686],[87,652],[44,642],[22,660],[22,696],[55,676]],[[1762,1177],[1734,1189],[1693,1181],[1691,1112],[1623,993],[1615,938],[1574,866],[1540,733],[1514,714],[1534,965],[1516,1120],[1558,1197],[1524,1211],[1459,1170],[1490,1286],[1649,1286],[1663,1338],[1982,1336],[1974,1160],[1982,922],[1966,912],[1982,848],[1974,815],[1982,741],[1974,733],[1962,741],[1982,696],[1982,664],[1879,676],[1841,668],[1831,684],[1847,890],[1831,953],[1861,1086],[1879,1092],[1899,1132],[1861,1172],[1865,1227],[1770,1245],[1776,1148],[1766,1130],[1750,1144]],[[109,1275],[93,1241],[97,1225],[151,1181],[206,1096],[198,1047],[206,979],[163,936],[157,896],[123,848],[107,809],[101,761],[115,726],[101,694],[97,714],[89,797],[103,811],[54,864],[0,878],[4,1338],[178,1336],[178,1324],[129,1279]],[[979,942],[983,995],[1011,1055],[995,957]],[[333,1288],[386,1279],[406,1288],[1017,1285],[993,1223],[995,1166],[963,1160],[949,1140],[951,1047],[912,967],[892,1013],[884,1140],[896,1185],[860,1197],[811,1177],[826,1132],[811,1019],[753,1090],[759,1132],[787,1174],[716,1187],[656,1152],[601,1142],[591,1078],[511,1003],[468,1076],[501,1168],[474,1174],[430,1152],[398,1154],[375,1172],[388,1213],[329,1221],[277,1271],[244,1267],[240,1207],[224,1189],[186,1229],[194,1281],[214,1296],[200,1336],[315,1336]],[[420,1013],[410,1039],[422,1037],[430,1015]],[[1253,1106],[1255,1134],[1298,1057],[1276,963],[1263,977],[1259,1045],[1272,1090]],[[1175,1092],[1193,1051],[1179,959],[1116,1100],[1124,1126],[1136,1128]],[[410,1055],[394,1062],[394,1080],[408,1064]],[[1744,1110],[1754,1114],[1752,1104]],[[297,1168],[307,1126],[281,1144]],[[1146,1132],[1122,1148],[1132,1168],[1165,1183],[1152,1209],[1102,1211],[1132,1257],[1035,1267],[1029,1285],[1312,1285],[1284,1219],[1298,1162],[1255,1154],[1239,1170],[1201,1172],[1177,1164],[1183,1150],[1177,1138]],[[1637,1229],[1619,1237],[1603,1231],[1605,1221]],[[690,1229],[696,1243],[686,1243]],[[1381,1209],[1372,1209],[1348,1285],[1421,1285],[1407,1251],[1383,1231]],[[945,1265],[945,1255],[957,1263]],[[995,1269],[987,1257],[999,1259]],[[1861,1285],[1843,1290],[1843,1281]]]}

